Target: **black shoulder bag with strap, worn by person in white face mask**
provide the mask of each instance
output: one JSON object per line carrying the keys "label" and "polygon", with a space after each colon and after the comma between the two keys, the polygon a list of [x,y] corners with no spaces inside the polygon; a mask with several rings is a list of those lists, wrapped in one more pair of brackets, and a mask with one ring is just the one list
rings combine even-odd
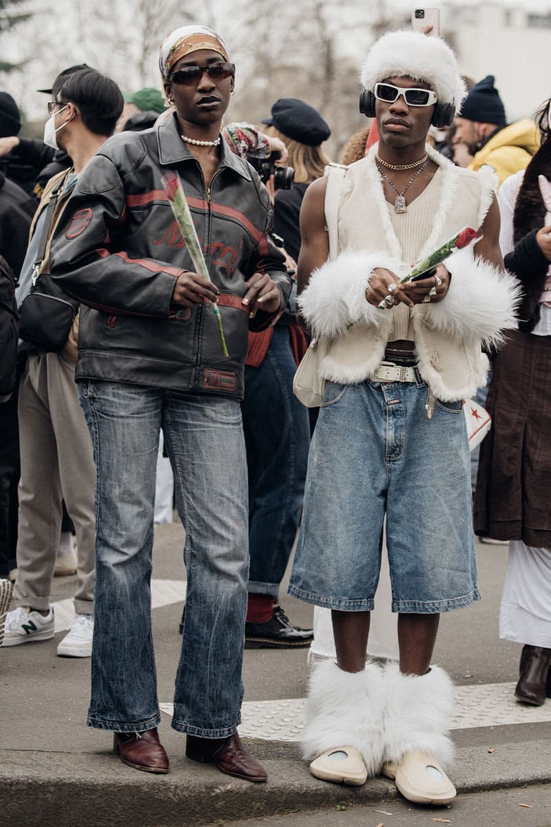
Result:
{"label": "black shoulder bag with strap, worn by person in white face mask", "polygon": [[59,190],[65,179],[52,190],[50,202],[46,208],[44,228],[36,261],[32,268],[31,291],[19,305],[19,336],[25,342],[38,347],[40,351],[60,351],[64,347],[69,332],[78,313],[78,301],[68,296],[58,287],[50,273],[40,273],[50,229],[54,220],[55,205]]}

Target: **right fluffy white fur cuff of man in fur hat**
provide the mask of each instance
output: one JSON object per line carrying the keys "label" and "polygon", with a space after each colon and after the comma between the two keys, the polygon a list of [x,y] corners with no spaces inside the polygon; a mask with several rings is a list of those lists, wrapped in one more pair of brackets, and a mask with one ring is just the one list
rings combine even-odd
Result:
{"label": "right fluffy white fur cuff of man in fur hat", "polygon": [[449,256],[446,266],[452,274],[448,294],[441,302],[421,305],[426,308],[425,322],[450,337],[500,347],[504,331],[517,327],[520,284],[470,250]]}

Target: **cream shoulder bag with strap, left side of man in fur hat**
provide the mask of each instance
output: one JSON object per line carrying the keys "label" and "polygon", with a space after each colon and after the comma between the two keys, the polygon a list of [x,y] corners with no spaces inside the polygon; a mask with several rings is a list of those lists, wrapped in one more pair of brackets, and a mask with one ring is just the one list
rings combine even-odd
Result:
{"label": "cream shoulder bag with strap, left side of man in fur hat", "polygon": [[[337,218],[340,208],[340,192],[346,167],[330,164],[325,190],[325,222],[329,232],[329,258],[333,261],[339,255],[339,232]],[[292,380],[292,392],[306,408],[319,408],[323,402],[325,379],[320,375],[320,365],[329,350],[330,339],[313,338],[310,347],[302,356]]]}

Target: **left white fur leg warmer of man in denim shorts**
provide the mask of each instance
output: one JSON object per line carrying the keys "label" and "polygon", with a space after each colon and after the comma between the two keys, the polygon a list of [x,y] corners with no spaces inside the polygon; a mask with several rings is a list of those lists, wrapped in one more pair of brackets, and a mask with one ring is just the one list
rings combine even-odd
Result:
{"label": "left white fur leg warmer of man in denim shorts", "polygon": [[326,749],[355,747],[368,775],[382,767],[382,714],[385,702],[381,667],[343,672],[334,661],[319,663],[310,678],[302,755],[311,761]]}

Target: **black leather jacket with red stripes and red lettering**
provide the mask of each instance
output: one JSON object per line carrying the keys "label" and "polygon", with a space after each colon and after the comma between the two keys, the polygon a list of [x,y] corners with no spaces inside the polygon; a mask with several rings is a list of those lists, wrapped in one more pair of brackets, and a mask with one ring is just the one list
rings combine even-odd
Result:
{"label": "black leather jacket with red stripes and red lettering", "polygon": [[[161,177],[178,170],[219,307],[226,358],[211,305],[171,304],[182,270],[195,270]],[[207,394],[243,395],[249,320],[245,280],[268,272],[287,304],[291,280],[268,237],[273,211],[249,165],[222,141],[207,188],[169,117],[158,129],[121,132],[94,155],[59,222],[50,272],[81,308],[78,380],[112,380]]]}

